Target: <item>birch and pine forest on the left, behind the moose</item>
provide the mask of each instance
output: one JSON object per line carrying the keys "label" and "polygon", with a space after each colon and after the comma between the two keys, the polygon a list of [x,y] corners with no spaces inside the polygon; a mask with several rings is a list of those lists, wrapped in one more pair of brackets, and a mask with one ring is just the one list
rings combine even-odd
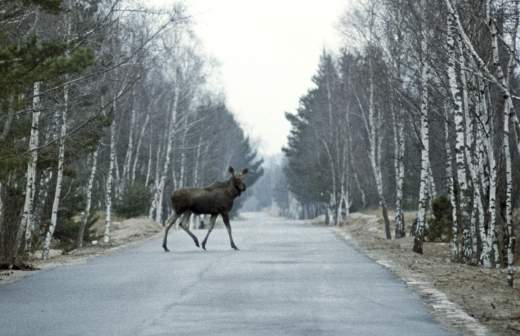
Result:
{"label": "birch and pine forest on the left, behind the moose", "polygon": [[97,220],[106,245],[114,216],[163,223],[174,189],[229,166],[254,184],[215,70],[182,3],[0,1],[0,268],[82,247]]}

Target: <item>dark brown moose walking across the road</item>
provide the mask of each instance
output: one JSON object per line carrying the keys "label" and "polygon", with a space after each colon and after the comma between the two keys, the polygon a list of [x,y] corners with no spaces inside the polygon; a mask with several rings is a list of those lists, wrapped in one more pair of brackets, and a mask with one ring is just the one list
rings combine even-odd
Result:
{"label": "dark brown moose walking across the road", "polygon": [[231,248],[238,250],[231,234],[229,212],[233,208],[235,198],[239,197],[246,190],[244,177],[248,169],[245,168],[242,172],[236,173],[233,167],[229,167],[228,171],[231,177],[227,181],[214,182],[203,188],[182,188],[173,192],[171,197],[173,213],[165,223],[166,229],[163,239],[163,249],[165,252],[170,251],[167,246],[168,231],[170,231],[170,228],[181,216],[180,227],[193,239],[195,245],[200,247],[199,240],[188,227],[188,219],[191,214],[210,215],[209,229],[206,237],[202,241],[202,248],[204,250],[206,250],[208,237],[211,231],[213,231],[218,215],[222,216],[224,220]]}

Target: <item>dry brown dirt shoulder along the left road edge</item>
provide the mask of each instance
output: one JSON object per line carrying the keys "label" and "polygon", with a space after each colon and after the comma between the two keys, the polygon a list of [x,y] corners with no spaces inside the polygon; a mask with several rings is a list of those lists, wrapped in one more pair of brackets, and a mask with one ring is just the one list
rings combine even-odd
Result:
{"label": "dry brown dirt shoulder along the left road edge", "polygon": [[39,270],[50,269],[60,265],[84,263],[90,258],[113,253],[121,248],[155,238],[163,230],[162,226],[145,217],[114,221],[112,223],[111,243],[103,245],[100,238],[103,236],[104,225],[100,223],[95,223],[91,227],[91,236],[94,239],[85,242],[85,247],[81,249],[75,249],[66,253],[52,249],[48,260],[41,260],[41,251],[36,251],[27,261],[29,265],[34,267],[34,270],[0,270],[0,286],[23,279]]}

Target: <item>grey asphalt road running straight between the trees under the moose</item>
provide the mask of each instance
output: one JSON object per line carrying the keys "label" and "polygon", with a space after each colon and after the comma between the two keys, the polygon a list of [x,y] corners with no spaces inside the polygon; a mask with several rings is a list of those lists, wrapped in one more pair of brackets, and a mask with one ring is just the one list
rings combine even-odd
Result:
{"label": "grey asphalt road running straight between the trees under the moose", "polygon": [[[248,214],[208,251],[182,231],[0,286],[0,335],[451,335],[334,232]],[[197,231],[199,239],[204,232]]]}

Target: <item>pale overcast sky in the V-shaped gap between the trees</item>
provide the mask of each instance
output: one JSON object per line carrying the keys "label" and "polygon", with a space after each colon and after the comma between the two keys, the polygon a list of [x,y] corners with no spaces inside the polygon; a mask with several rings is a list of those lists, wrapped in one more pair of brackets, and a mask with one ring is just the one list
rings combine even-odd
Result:
{"label": "pale overcast sky in the V-shaped gap between the trees", "polygon": [[[143,0],[145,1],[145,0]],[[186,0],[204,49],[220,63],[218,82],[263,155],[280,152],[311,86],[323,48],[336,50],[349,0]],[[146,0],[168,6],[173,0]]]}

